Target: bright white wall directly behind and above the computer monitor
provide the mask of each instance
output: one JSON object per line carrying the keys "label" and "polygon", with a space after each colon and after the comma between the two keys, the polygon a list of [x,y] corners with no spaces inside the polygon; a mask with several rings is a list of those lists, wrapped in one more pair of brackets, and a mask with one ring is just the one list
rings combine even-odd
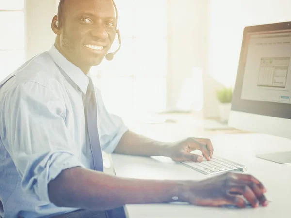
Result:
{"label": "bright white wall directly behind and above the computer monitor", "polygon": [[234,85],[245,26],[291,21],[291,0],[210,0],[209,72]]}

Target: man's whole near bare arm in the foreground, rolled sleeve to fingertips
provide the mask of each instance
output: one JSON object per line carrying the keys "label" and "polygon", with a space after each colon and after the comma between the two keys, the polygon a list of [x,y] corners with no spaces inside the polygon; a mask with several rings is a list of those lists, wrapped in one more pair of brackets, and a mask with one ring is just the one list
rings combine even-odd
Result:
{"label": "man's whole near bare arm in the foreground, rolled sleeve to fingertips", "polygon": [[[245,207],[241,195],[253,207],[266,206],[266,192],[256,178],[226,173],[206,181],[125,179],[85,168],[62,171],[49,182],[49,199],[60,207],[108,210],[125,204],[189,202],[194,205]],[[233,194],[230,194],[233,193]],[[235,194],[237,193],[237,194]]]}

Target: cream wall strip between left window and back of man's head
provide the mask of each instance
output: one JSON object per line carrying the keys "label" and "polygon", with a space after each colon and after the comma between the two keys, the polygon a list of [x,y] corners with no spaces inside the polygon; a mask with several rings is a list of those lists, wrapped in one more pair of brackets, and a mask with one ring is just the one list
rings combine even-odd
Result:
{"label": "cream wall strip between left window and back of man's head", "polygon": [[56,0],[25,0],[26,59],[45,50],[54,43],[55,34],[50,26],[56,14]]}

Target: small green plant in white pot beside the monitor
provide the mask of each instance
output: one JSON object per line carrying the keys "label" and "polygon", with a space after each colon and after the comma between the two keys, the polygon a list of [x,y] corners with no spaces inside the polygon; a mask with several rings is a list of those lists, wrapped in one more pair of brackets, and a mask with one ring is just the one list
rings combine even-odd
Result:
{"label": "small green plant in white pot beside the monitor", "polygon": [[227,123],[231,110],[232,88],[223,88],[217,91],[217,99],[219,103],[220,121]]}

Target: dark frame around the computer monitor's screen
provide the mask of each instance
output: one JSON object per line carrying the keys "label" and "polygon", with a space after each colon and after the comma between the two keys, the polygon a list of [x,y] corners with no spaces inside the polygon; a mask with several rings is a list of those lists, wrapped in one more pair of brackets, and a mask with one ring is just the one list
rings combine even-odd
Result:
{"label": "dark frame around the computer monitor's screen", "polygon": [[248,26],[244,28],[240,61],[239,61],[239,66],[238,66],[238,71],[237,71],[236,84],[235,84],[235,88],[233,92],[231,110],[239,111],[239,112],[246,112],[246,113],[251,113],[251,114],[291,119],[291,104],[241,99],[244,69],[246,65],[245,60],[244,60],[244,52],[246,48],[245,44],[246,44],[247,35],[253,32],[280,31],[280,30],[291,30],[291,21],[283,22],[283,23]]}

